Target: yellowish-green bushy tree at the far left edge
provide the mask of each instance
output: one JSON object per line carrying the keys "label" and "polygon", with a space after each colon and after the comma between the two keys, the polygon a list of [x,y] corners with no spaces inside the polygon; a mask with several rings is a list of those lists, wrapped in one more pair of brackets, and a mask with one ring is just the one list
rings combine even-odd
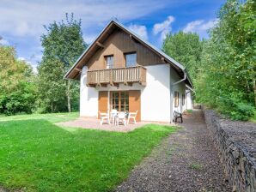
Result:
{"label": "yellowish-green bushy tree at the far left edge", "polygon": [[15,57],[15,49],[0,45],[0,113],[34,110],[36,86],[31,67]]}

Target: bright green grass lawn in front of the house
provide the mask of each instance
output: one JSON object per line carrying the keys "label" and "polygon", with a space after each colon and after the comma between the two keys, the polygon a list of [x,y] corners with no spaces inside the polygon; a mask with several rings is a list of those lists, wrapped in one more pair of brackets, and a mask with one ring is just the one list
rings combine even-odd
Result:
{"label": "bright green grass lawn in front of the house", "polygon": [[0,117],[0,185],[24,191],[111,191],[174,127],[129,133],[64,129],[77,113]]}

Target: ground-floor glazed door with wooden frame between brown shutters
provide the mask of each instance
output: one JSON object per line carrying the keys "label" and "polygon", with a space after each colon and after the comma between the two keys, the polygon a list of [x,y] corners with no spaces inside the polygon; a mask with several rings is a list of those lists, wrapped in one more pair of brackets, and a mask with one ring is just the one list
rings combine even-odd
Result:
{"label": "ground-floor glazed door with wooden frame between brown shutters", "polygon": [[129,111],[129,92],[110,92],[110,109]]}

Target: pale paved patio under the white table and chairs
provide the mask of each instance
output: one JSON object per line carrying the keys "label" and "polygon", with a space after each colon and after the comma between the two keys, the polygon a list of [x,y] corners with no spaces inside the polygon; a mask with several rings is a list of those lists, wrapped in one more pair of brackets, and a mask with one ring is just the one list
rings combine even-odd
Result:
{"label": "pale paved patio under the white table and chairs", "polygon": [[150,123],[174,126],[174,123],[163,123],[163,122],[137,122],[136,124],[128,123],[126,126],[123,124],[119,124],[119,126],[117,126],[117,125],[114,125],[113,123],[111,124],[103,123],[101,125],[100,120],[95,117],[79,117],[74,121],[61,122],[56,124],[64,127],[71,127],[71,128],[100,129],[100,130],[107,130],[107,131],[129,132],[139,127],[142,127],[145,124],[150,124]]}

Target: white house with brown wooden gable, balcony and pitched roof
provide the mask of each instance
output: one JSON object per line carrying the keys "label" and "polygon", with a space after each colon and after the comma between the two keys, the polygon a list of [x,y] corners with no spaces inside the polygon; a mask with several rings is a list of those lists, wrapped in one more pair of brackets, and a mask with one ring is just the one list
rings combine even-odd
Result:
{"label": "white house with brown wooden gable, balcony and pitched roof", "polygon": [[117,109],[138,111],[137,121],[171,122],[174,111],[191,104],[186,69],[118,21],[107,24],[64,78],[81,81],[82,117]]}

